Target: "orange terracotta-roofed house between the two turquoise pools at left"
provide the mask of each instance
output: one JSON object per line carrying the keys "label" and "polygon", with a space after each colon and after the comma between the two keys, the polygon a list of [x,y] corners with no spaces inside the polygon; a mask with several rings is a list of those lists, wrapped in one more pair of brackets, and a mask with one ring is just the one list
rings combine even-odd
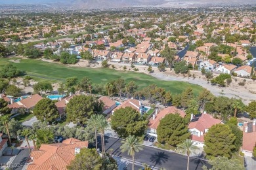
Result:
{"label": "orange terracotta-roofed house between the two turquoise pools at left", "polygon": [[26,112],[28,112],[29,110],[33,110],[33,108],[35,107],[35,105],[41,100],[43,99],[43,97],[41,97],[41,95],[39,94],[33,94],[33,95],[29,95],[26,99],[22,99],[22,97],[20,97],[20,101],[16,102],[16,103],[12,103],[11,105],[8,105],[9,108],[12,109],[12,112],[15,112],[15,109],[24,107]]}

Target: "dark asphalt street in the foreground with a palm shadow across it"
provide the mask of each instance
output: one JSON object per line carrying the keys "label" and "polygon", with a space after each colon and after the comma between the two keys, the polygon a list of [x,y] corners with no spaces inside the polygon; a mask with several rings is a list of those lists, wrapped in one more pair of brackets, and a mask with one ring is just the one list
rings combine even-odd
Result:
{"label": "dark asphalt street in the foreground with a palm shadow across it", "polygon": [[[120,150],[121,139],[116,139],[113,137],[105,137],[106,152],[111,152],[115,156],[122,158],[127,158],[131,160],[131,156],[127,153],[122,153]],[[100,143],[100,142],[99,142]],[[99,146],[100,147],[100,146]],[[110,150],[111,148],[111,150]],[[165,150],[160,150],[158,148],[153,148],[150,146],[144,146],[144,149],[135,154],[135,161],[139,163],[146,163],[152,167],[164,167],[165,169],[186,169],[186,156],[176,154],[173,152],[168,152]],[[190,170],[202,169],[203,165],[209,167],[207,161],[199,160],[197,158],[190,158]],[[127,167],[128,169],[128,167]]]}

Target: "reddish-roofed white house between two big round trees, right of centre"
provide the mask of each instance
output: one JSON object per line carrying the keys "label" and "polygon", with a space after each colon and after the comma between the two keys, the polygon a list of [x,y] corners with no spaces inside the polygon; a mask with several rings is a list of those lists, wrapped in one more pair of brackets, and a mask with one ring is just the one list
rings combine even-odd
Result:
{"label": "reddish-roofed white house between two big round trees, right of centre", "polygon": [[190,124],[188,125],[188,129],[191,132],[191,140],[196,146],[203,147],[203,136],[205,133],[207,133],[211,126],[220,123],[221,120],[215,119],[211,114],[205,112],[203,114],[196,114],[195,116],[192,114]]}

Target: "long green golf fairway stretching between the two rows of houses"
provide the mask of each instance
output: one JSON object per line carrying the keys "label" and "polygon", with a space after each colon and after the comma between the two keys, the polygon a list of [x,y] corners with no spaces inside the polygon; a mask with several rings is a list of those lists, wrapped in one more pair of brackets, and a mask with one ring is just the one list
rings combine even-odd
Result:
{"label": "long green golf fairway stretching between the two rows of houses", "polygon": [[156,84],[159,87],[169,90],[171,93],[181,93],[190,86],[194,90],[194,93],[198,95],[203,89],[201,86],[189,84],[187,82],[158,80],[153,76],[143,73],[135,73],[133,71],[67,67],[66,65],[48,63],[38,59],[21,59],[20,63],[13,63],[9,61],[10,59],[16,58],[0,58],[0,68],[6,63],[12,63],[21,71],[25,71],[27,75],[35,77],[35,80],[45,79],[57,82],[64,81],[65,78],[70,76],[77,76],[79,79],[83,78],[83,76],[88,76],[95,84],[106,83],[110,80],[123,78],[126,82],[134,80],[139,85],[139,88],[144,88],[150,84]]}

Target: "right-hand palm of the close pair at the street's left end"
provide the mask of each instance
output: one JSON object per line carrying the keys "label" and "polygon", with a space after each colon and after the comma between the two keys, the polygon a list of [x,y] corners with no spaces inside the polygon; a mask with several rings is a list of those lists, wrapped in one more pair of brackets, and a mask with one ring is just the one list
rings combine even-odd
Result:
{"label": "right-hand palm of the close pair at the street's left end", "polygon": [[103,159],[104,159],[104,157],[105,157],[104,134],[105,134],[105,129],[108,128],[108,122],[106,121],[106,118],[104,118],[104,116],[102,114],[97,114],[96,126],[98,126],[98,129],[100,130],[102,155],[103,155]]}

